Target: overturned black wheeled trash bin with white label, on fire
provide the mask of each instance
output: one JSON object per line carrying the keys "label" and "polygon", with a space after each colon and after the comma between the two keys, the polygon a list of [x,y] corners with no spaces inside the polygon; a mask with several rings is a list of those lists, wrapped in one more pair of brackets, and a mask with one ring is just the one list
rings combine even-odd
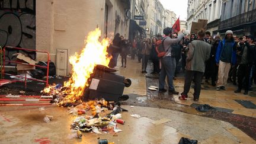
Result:
{"label": "overturned black wheeled trash bin with white label, on fire", "polygon": [[107,101],[127,100],[128,95],[123,95],[124,87],[130,87],[132,81],[118,75],[116,69],[107,66],[97,65],[91,74],[89,87],[85,88],[82,99],[92,100],[104,98]]}

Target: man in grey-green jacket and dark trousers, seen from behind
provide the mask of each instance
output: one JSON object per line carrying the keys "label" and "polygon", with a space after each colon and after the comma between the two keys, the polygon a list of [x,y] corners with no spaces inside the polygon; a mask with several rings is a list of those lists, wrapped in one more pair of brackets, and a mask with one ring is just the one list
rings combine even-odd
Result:
{"label": "man in grey-green jacket and dark trousers, seen from behind", "polygon": [[185,82],[184,90],[181,93],[181,100],[187,100],[188,92],[190,90],[192,79],[194,78],[194,101],[199,101],[199,95],[201,91],[201,80],[205,70],[205,62],[210,57],[211,45],[204,41],[204,31],[199,30],[198,40],[191,41],[188,44],[188,53],[187,53],[187,65],[185,69]]}

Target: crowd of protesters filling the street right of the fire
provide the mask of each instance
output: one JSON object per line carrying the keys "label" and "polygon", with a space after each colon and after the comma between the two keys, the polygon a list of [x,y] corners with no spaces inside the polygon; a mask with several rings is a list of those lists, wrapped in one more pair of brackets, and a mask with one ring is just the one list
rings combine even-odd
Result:
{"label": "crowd of protesters filling the street right of the fire", "polygon": [[[256,82],[256,47],[254,36],[237,37],[231,30],[226,31],[223,39],[211,36],[209,31],[198,31],[188,34],[186,31],[173,33],[172,28],[165,28],[164,36],[158,35],[153,39],[134,39],[132,43],[119,33],[110,44],[108,53],[113,57],[110,68],[117,65],[117,57],[121,55],[121,66],[126,68],[127,55],[132,60],[142,63],[142,73],[147,72],[149,62],[152,62],[152,74],[159,75],[159,92],[167,92],[165,78],[167,77],[168,93],[179,94],[175,91],[173,80],[181,71],[185,72],[184,91],[181,99],[187,100],[191,82],[194,82],[194,101],[199,100],[201,82],[211,81],[217,91],[225,90],[228,81],[238,85],[234,92],[247,95],[252,81]],[[165,55],[158,57],[157,41],[163,44]],[[236,80],[237,79],[237,80]]]}

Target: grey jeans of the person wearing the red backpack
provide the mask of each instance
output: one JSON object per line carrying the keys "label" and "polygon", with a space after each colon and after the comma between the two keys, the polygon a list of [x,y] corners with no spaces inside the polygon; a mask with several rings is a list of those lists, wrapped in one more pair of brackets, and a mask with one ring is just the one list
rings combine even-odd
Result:
{"label": "grey jeans of the person wearing the red backpack", "polygon": [[176,69],[175,57],[166,56],[161,59],[161,71],[159,74],[159,89],[165,87],[165,77],[167,76],[167,83],[169,91],[174,91],[173,77]]}

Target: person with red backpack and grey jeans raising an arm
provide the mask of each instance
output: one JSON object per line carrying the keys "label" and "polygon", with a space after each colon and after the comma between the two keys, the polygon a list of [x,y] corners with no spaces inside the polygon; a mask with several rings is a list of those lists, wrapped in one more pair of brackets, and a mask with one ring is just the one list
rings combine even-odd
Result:
{"label": "person with red backpack and grey jeans raising an arm", "polygon": [[[159,74],[159,89],[158,92],[166,92],[167,89],[165,89],[165,77],[167,76],[168,81],[168,94],[178,94],[179,92],[175,91],[174,85],[173,85],[173,76],[176,69],[176,62],[175,62],[175,53],[171,47],[171,44],[173,43],[179,43],[181,39],[183,39],[184,30],[183,33],[179,34],[177,39],[171,39],[171,33],[172,28],[164,28],[163,33],[165,34],[165,38],[162,39],[162,46],[164,48],[164,55],[161,56],[161,71]],[[158,45],[158,48],[159,45]],[[159,56],[159,50],[157,50],[158,56]]]}

